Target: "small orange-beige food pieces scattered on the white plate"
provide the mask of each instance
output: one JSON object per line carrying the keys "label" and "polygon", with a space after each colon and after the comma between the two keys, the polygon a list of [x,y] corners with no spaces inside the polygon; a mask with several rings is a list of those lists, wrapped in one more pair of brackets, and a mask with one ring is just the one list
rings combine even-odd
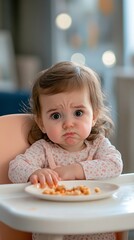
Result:
{"label": "small orange-beige food pieces scattered on the white plate", "polygon": [[[95,187],[93,189],[94,193],[101,192],[99,187]],[[90,195],[92,194],[91,189],[87,186],[80,185],[72,188],[66,188],[65,185],[58,185],[53,188],[46,188],[42,191],[43,194],[50,194],[50,195],[68,195],[68,196],[75,196],[75,195]]]}

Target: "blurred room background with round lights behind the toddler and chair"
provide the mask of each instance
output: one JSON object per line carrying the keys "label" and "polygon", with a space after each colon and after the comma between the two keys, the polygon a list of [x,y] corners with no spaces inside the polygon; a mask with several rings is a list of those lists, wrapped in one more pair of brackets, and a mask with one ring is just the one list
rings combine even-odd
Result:
{"label": "blurred room background with round lights behind the toddler and chair", "polygon": [[134,172],[133,11],[133,0],[0,0],[0,115],[25,112],[42,69],[85,64],[101,78],[124,172]]}

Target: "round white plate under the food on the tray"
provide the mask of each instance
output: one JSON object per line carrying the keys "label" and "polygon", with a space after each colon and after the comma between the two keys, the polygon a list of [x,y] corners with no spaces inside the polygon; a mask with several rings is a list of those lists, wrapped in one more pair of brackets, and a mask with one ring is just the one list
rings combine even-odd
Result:
{"label": "round white plate under the food on the tray", "polygon": [[[39,188],[38,185],[29,185],[25,188],[25,191],[37,198],[45,199],[45,200],[51,200],[51,201],[91,201],[91,200],[99,200],[103,198],[107,198],[112,196],[118,189],[119,186],[112,183],[106,183],[106,182],[99,182],[99,181],[89,181],[89,180],[83,180],[83,181],[60,181],[59,185],[65,185],[66,188],[72,188],[79,185],[84,185],[90,188],[91,194],[90,195],[49,195],[49,194],[43,194],[42,192],[44,189]],[[94,188],[99,187],[100,192],[95,193]]]}

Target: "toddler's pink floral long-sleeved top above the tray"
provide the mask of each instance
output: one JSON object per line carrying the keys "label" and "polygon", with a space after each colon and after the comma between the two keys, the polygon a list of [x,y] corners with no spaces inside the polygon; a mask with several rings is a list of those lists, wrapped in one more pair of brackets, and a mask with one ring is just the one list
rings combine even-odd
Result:
{"label": "toddler's pink floral long-sleeved top above the tray", "polygon": [[37,169],[54,169],[58,165],[74,163],[81,164],[86,179],[104,179],[121,174],[121,154],[107,138],[100,135],[93,143],[85,140],[85,144],[82,151],[68,152],[57,144],[38,140],[10,162],[9,179],[14,183],[23,183]]}

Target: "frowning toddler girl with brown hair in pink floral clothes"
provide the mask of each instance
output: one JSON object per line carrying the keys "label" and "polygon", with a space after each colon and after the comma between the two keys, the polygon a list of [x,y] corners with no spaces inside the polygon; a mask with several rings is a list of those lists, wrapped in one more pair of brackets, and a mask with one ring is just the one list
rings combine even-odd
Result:
{"label": "frowning toddler girl with brown hair in pink floral clothes", "polygon": [[[108,137],[113,128],[97,74],[89,67],[59,62],[34,82],[31,146],[9,164],[9,179],[42,187],[59,180],[106,179],[121,174],[121,154]],[[33,234],[41,240],[43,235]],[[115,240],[115,233],[66,235],[64,240]]]}

